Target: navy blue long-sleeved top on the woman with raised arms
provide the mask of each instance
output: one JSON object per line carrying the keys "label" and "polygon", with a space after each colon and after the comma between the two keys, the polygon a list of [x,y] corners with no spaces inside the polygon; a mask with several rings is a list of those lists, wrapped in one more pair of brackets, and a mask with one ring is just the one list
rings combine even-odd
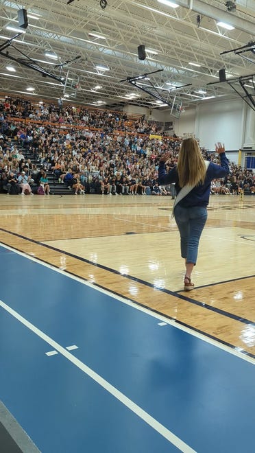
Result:
{"label": "navy blue long-sleeved top on the woman with raised arms", "polygon": [[[186,195],[178,203],[182,207],[193,207],[193,206],[204,206],[206,207],[209,202],[210,196],[210,183],[213,179],[224,178],[229,172],[230,167],[228,165],[228,158],[225,152],[219,154],[221,159],[220,165],[210,162],[204,184],[195,186],[188,195]],[[158,183],[160,185],[167,185],[175,183],[175,190],[178,194],[180,192],[179,178],[177,166],[173,167],[168,173],[166,172],[165,162],[160,162],[158,166]]]}

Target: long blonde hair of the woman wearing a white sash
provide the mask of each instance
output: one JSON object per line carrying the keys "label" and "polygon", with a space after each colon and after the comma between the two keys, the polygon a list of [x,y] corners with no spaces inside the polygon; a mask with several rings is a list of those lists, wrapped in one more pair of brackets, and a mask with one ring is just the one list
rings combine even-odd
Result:
{"label": "long blonde hair of the woman wearing a white sash", "polygon": [[193,137],[184,139],[180,147],[177,171],[179,185],[204,184],[206,178],[206,164],[202,157],[199,145]]}

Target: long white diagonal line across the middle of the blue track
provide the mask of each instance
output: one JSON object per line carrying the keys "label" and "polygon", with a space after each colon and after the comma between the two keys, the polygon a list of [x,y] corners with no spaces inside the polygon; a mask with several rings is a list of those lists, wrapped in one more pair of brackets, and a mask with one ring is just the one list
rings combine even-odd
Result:
{"label": "long white diagonal line across the middle of the blue track", "polygon": [[117,388],[112,386],[109,382],[107,382],[104,377],[101,377],[99,374],[95,373],[92,369],[87,367],[86,364],[81,362],[81,360],[77,359],[75,356],[73,356],[69,351],[66,351],[64,347],[59,345],[55,340],[53,340],[51,337],[49,337],[47,334],[42,332],[40,329],[38,329],[35,325],[32,323],[29,323],[27,319],[23,318],[18,312],[15,312],[15,310],[12,310],[9,305],[6,305],[3,301],[0,301],[0,306],[8,313],[10,313],[14,318],[16,318],[20,323],[25,325],[27,329],[31,330],[42,338],[45,342],[47,342],[51,347],[53,347],[56,351],[58,351],[62,356],[64,356],[67,360],[72,362],[75,367],[79,368],[82,370],[86,375],[91,377],[97,384],[99,384],[101,387],[103,387],[106,391],[108,391],[112,396],[114,396],[116,399],[118,399],[122,404],[124,404],[127,408],[132,410],[132,412],[145,423],[147,423],[151,428],[153,428],[155,431],[157,431],[159,434],[162,435],[162,437],[165,437],[167,441],[171,442],[175,447],[179,448],[181,452],[185,453],[195,453],[195,450],[193,448],[189,447],[185,442],[182,441],[179,437],[175,436],[173,432],[169,431],[165,426],[163,426],[161,423],[159,423],[154,417],[151,417],[145,410],[143,410],[140,406],[135,404],[132,399],[127,398],[123,393],[121,393]]}

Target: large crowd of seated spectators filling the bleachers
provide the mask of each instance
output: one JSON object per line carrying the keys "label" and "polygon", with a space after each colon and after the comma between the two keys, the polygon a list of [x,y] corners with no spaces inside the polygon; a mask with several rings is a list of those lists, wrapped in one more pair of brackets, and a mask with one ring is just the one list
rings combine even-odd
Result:
{"label": "large crowd of seated spectators filling the bleachers", "polygon": [[[5,193],[19,188],[21,194],[33,194],[38,187],[49,193],[48,172],[54,183],[74,194],[174,197],[174,187],[157,183],[158,163],[160,154],[170,149],[169,167],[175,165],[181,139],[164,136],[155,121],[10,98],[0,103],[0,121],[0,190]],[[150,137],[159,134],[161,138]],[[205,159],[217,161],[215,154],[202,152]],[[243,189],[254,193],[254,174],[232,163],[229,178],[213,181],[211,193],[238,194]]]}

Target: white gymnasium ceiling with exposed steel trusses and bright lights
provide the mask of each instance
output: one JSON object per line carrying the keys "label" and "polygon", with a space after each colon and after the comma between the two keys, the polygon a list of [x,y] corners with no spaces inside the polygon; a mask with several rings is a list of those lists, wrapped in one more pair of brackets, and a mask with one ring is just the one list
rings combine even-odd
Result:
{"label": "white gymnasium ceiling with exposed steel trusses and bright lights", "polygon": [[[70,100],[81,104],[119,109],[135,104],[169,110],[171,105],[160,107],[146,87],[142,90],[134,83],[132,91],[136,91],[136,96],[130,97],[128,80],[148,73],[149,84],[159,96],[171,104],[172,91],[178,90],[184,108],[204,102],[207,97],[236,96],[230,84],[212,82],[219,80],[221,68],[226,69],[229,78],[245,77],[254,71],[254,63],[239,58],[233,50],[254,38],[255,1],[236,0],[234,13],[226,12],[223,0],[212,0],[210,5],[206,0],[176,3],[180,7],[173,9],[157,0],[108,0],[103,9],[97,0],[75,0],[69,4],[67,0],[23,0],[22,5],[19,1],[2,0],[0,49],[14,36],[6,27],[19,25],[18,10],[25,8],[31,17],[26,33],[15,36],[12,42],[16,72],[6,69],[8,50],[0,52],[1,91],[25,94],[29,80],[36,99],[58,100],[64,96],[62,76],[66,77],[64,62],[68,61],[68,73],[79,80],[80,86],[73,97],[69,93]],[[228,19],[234,30],[219,27],[216,19]],[[137,54],[141,44],[146,49],[143,61]],[[47,58],[46,51],[56,54],[57,62]]]}

